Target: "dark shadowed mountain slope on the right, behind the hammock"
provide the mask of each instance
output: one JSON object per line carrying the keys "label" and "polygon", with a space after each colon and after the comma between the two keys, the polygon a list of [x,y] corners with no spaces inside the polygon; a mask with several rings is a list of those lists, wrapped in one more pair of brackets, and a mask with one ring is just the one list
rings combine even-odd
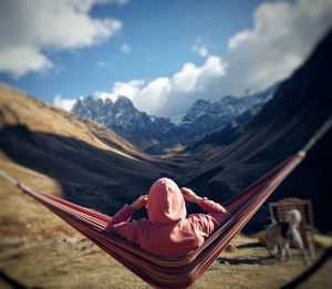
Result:
{"label": "dark shadowed mountain slope on the right, behind the hammock", "polygon": [[[187,154],[200,159],[200,165],[190,171],[186,183],[208,188],[212,198],[221,200],[225,193],[229,196],[237,194],[300,149],[332,115],[331,51],[332,33],[307,63],[281,84],[273,100],[256,116],[243,115],[236,125],[230,123],[188,147]],[[281,186],[272,196],[272,199],[284,196],[312,198],[319,226],[325,229],[332,227],[331,206],[325,203],[332,200],[329,194],[332,190],[331,135],[329,132],[284,187]],[[260,210],[251,224],[259,226],[266,221],[263,211]]]}

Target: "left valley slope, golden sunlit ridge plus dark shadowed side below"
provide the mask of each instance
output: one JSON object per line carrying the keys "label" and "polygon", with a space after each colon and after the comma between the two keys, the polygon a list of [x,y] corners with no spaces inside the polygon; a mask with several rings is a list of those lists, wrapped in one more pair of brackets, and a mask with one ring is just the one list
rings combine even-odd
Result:
{"label": "left valley slope, golden sunlit ridge plus dark shadowed side below", "polygon": [[0,148],[2,164],[13,162],[49,176],[64,198],[108,214],[169,171],[167,163],[139,153],[102,125],[4,85]]}

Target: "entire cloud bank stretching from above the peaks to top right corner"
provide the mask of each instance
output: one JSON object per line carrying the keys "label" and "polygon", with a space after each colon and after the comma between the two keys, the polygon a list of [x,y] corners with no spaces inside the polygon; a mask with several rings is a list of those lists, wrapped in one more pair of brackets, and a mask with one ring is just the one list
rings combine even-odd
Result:
{"label": "entire cloud bank stretching from above the peaks to top right corner", "polygon": [[[215,101],[246,90],[263,90],[301,65],[332,24],[331,0],[268,2],[255,11],[253,28],[234,35],[225,58],[207,55],[203,65],[185,63],[169,78],[115,83],[96,97],[129,97],[136,107],[158,116],[186,112],[198,99]],[[201,39],[195,44],[204,47]],[[198,52],[198,50],[197,50]]]}

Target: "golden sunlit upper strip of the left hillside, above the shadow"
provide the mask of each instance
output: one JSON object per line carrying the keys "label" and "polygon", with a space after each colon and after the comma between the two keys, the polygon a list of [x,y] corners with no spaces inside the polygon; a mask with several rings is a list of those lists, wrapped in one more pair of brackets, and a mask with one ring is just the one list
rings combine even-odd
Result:
{"label": "golden sunlit upper strip of the left hillside, above the shadow", "polygon": [[[24,124],[31,131],[77,138],[124,157],[142,157],[142,154],[133,145],[116,133],[3,84],[0,85],[0,107],[1,128],[4,125]],[[108,142],[108,145],[105,144],[105,141]]]}

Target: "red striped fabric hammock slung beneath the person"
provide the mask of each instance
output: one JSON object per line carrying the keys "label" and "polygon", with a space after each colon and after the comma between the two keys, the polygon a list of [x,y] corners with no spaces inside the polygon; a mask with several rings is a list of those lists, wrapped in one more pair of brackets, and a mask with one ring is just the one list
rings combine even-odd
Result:
{"label": "red striped fabric hammock slung beneath the person", "polygon": [[278,185],[299,165],[304,155],[304,152],[299,152],[255,182],[238,196],[222,204],[231,213],[230,219],[216,230],[201,247],[186,256],[176,258],[154,256],[116,235],[106,233],[104,229],[111,219],[106,215],[35,192],[20,183],[17,185],[144,281],[158,288],[186,288],[205,272]]}

